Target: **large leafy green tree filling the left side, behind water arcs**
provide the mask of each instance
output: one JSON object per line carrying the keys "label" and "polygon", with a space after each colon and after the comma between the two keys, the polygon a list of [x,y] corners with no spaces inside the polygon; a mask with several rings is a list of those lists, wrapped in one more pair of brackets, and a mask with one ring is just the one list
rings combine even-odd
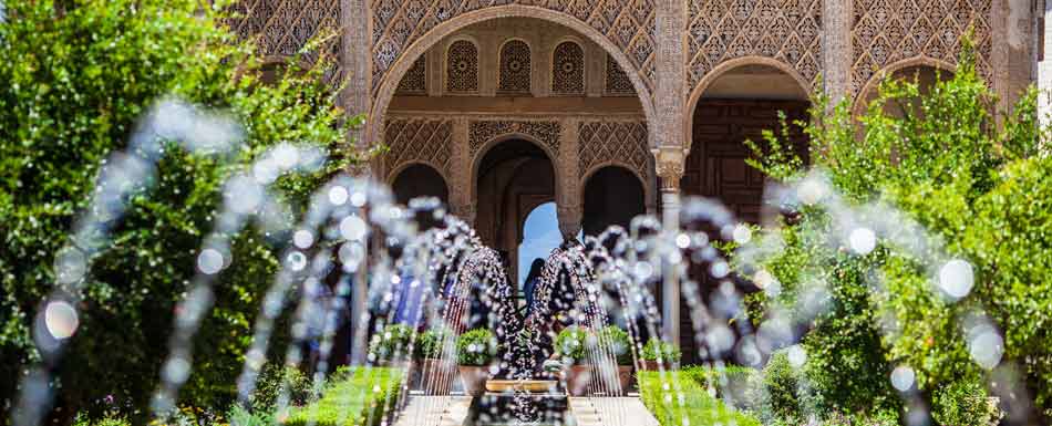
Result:
{"label": "large leafy green tree filling the left side, behind water arcs", "polygon": [[[301,211],[307,195],[357,162],[348,126],[322,83],[331,63],[298,58],[264,84],[250,42],[220,24],[223,4],[196,0],[4,0],[0,22],[0,399],[13,406],[18,381],[40,354],[30,328],[55,282],[56,251],[87,207],[106,156],[123,149],[141,115],[175,96],[244,125],[234,158],[189,154],[169,144],[152,189],[128,200],[112,247],[92,259],[81,326],[55,385],[54,415],[69,419],[112,395],[140,418],[158,383],[173,310],[194,274],[195,254],[221,201],[224,179],[280,142],[328,149],[326,168],[281,177],[277,187]],[[327,40],[307,49],[319,49]],[[313,54],[313,53],[312,53]],[[137,183],[136,183],[137,184]],[[235,395],[250,328],[278,264],[282,236],[235,236],[234,263],[216,284],[215,308],[194,349],[182,404],[221,407]],[[111,399],[112,399],[111,398]],[[123,404],[123,403],[122,403]],[[219,408],[221,409],[221,408]],[[6,416],[7,417],[7,416]]]}

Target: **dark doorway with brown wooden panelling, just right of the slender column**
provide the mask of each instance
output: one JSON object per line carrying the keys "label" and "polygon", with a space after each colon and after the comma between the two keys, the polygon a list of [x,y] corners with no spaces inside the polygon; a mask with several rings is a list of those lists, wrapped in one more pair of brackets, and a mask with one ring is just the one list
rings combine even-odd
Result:
{"label": "dark doorway with brown wooden panelling, just right of the slender column", "polygon": [[[683,194],[716,199],[740,221],[760,224],[766,217],[775,217],[776,210],[765,210],[763,206],[767,177],[745,163],[753,156],[745,141],[764,146],[764,131],[772,131],[781,137],[778,113],[784,113],[790,126],[790,143],[807,162],[806,135],[794,123],[808,117],[808,107],[807,92],[794,79],[770,66],[745,66],[718,79],[694,108],[691,150],[680,181]],[[774,215],[766,215],[767,211]],[[715,229],[710,229],[709,233],[711,239],[720,238]],[[709,273],[709,267],[692,264],[689,271],[699,283],[705,303],[721,282]],[[740,291],[754,290],[747,282],[734,281],[739,282]],[[681,301],[680,306],[683,363],[704,361],[699,359],[690,308],[685,301]]]}

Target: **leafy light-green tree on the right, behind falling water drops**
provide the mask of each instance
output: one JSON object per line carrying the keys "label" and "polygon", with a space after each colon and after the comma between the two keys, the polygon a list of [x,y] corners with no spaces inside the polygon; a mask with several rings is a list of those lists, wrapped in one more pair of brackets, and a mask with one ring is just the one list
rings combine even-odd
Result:
{"label": "leafy light-green tree on the right, behind falling water drops", "polygon": [[[936,418],[989,413],[959,406],[986,404],[988,392],[1020,406],[1011,392],[974,383],[1021,384],[1025,392],[1014,397],[1029,394],[1039,413],[1052,415],[1052,157],[1042,150],[1048,134],[1036,123],[1035,96],[1027,93],[998,123],[994,96],[965,49],[952,79],[930,93],[917,81],[887,81],[857,122],[846,105],[826,115],[819,100],[806,125],[811,158],[843,204],[800,204],[782,227],[764,231],[751,256],[770,274],[759,278],[776,290],[753,295],[751,306],[756,319],[787,309],[806,328],[804,370],[821,416],[901,413],[888,380],[899,365],[916,372]],[[889,114],[889,103],[910,107]],[[790,144],[767,136],[764,149],[753,145],[753,166],[790,184],[814,178]],[[859,254],[835,242],[838,218],[896,211],[903,222],[878,230],[874,250]],[[911,238],[926,245],[884,238],[903,230],[919,231]],[[952,259],[974,276],[959,300],[939,287],[939,269]],[[817,311],[806,309],[815,288],[826,297]],[[1003,335],[1003,360],[1019,366],[1019,383],[1007,364],[991,371],[976,354],[980,312]],[[952,393],[935,393],[942,386]]]}

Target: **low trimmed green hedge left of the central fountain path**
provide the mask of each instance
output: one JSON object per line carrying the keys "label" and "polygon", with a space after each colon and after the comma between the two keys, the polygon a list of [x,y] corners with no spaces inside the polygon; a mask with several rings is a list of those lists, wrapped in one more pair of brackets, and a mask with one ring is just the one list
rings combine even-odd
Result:
{"label": "low trimmed green hedge left of the central fountain path", "polygon": [[321,399],[305,407],[292,408],[288,426],[313,424],[380,425],[398,401],[405,372],[390,367],[358,367],[337,372],[326,386]]}

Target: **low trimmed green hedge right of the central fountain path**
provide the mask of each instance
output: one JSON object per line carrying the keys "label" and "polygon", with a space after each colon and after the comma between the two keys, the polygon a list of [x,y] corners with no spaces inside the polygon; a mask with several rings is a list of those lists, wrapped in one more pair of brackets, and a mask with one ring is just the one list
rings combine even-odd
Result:
{"label": "low trimmed green hedge right of the central fountain path", "polygon": [[[664,373],[666,381],[671,384],[671,391],[666,391],[661,372],[638,373],[639,393],[643,404],[650,413],[653,413],[661,426],[680,426],[684,418],[691,425],[760,426],[756,417],[729,407],[710,396],[705,385],[695,380],[697,376],[697,373]],[[679,389],[673,384],[675,382],[679,383]],[[679,392],[683,394],[682,403],[677,397]],[[667,398],[667,395],[671,398]]]}

